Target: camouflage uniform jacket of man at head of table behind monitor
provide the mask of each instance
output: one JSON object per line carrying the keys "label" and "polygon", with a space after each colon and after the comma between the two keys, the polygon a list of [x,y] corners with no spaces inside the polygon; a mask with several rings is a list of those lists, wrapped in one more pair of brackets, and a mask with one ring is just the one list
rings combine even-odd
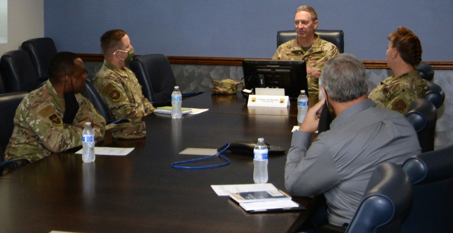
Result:
{"label": "camouflage uniform jacket of man at head of table behind monitor", "polygon": [[[294,40],[290,40],[283,43],[277,48],[277,51],[272,57],[273,60],[304,60],[307,67],[313,67],[321,71],[324,67],[324,63],[330,58],[340,54],[337,47],[330,42],[321,39],[316,34],[316,40],[307,52],[304,53],[302,47],[297,41],[297,37]],[[313,76],[307,76],[308,79],[308,98],[310,106],[318,103],[318,79]]]}

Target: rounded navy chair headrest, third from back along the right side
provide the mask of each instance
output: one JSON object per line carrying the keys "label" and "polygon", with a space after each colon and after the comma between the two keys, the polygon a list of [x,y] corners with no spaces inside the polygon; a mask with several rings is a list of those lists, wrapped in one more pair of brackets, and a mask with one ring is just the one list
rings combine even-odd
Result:
{"label": "rounded navy chair headrest, third from back along the right side", "polygon": [[415,131],[421,133],[436,125],[437,110],[431,102],[419,98],[409,106],[406,118],[412,123]]}

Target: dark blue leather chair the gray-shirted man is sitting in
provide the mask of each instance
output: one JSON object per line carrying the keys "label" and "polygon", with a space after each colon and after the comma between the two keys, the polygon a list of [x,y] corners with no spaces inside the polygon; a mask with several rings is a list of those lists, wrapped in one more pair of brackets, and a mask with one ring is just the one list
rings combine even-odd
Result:
{"label": "dark blue leather chair the gray-shirted man is sitting in", "polygon": [[356,214],[347,228],[327,224],[317,233],[390,233],[400,232],[409,211],[412,184],[403,169],[383,163],[373,171]]}

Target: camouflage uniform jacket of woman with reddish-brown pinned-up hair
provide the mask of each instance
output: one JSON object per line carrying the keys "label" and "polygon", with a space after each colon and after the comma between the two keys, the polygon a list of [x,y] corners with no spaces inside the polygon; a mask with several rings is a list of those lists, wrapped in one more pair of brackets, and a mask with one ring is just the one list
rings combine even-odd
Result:
{"label": "camouflage uniform jacket of woman with reddish-brown pinned-up hair", "polygon": [[392,109],[406,115],[409,105],[422,98],[428,84],[418,71],[410,71],[398,77],[390,76],[378,84],[370,93],[376,106]]}

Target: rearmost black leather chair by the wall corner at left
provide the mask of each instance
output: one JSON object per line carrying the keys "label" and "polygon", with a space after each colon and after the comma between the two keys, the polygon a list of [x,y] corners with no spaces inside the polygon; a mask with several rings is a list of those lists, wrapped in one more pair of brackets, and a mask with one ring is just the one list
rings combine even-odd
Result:
{"label": "rearmost black leather chair by the wall corner at left", "polygon": [[48,37],[29,39],[22,43],[22,49],[28,53],[39,81],[47,80],[50,59],[57,54],[53,39]]}

